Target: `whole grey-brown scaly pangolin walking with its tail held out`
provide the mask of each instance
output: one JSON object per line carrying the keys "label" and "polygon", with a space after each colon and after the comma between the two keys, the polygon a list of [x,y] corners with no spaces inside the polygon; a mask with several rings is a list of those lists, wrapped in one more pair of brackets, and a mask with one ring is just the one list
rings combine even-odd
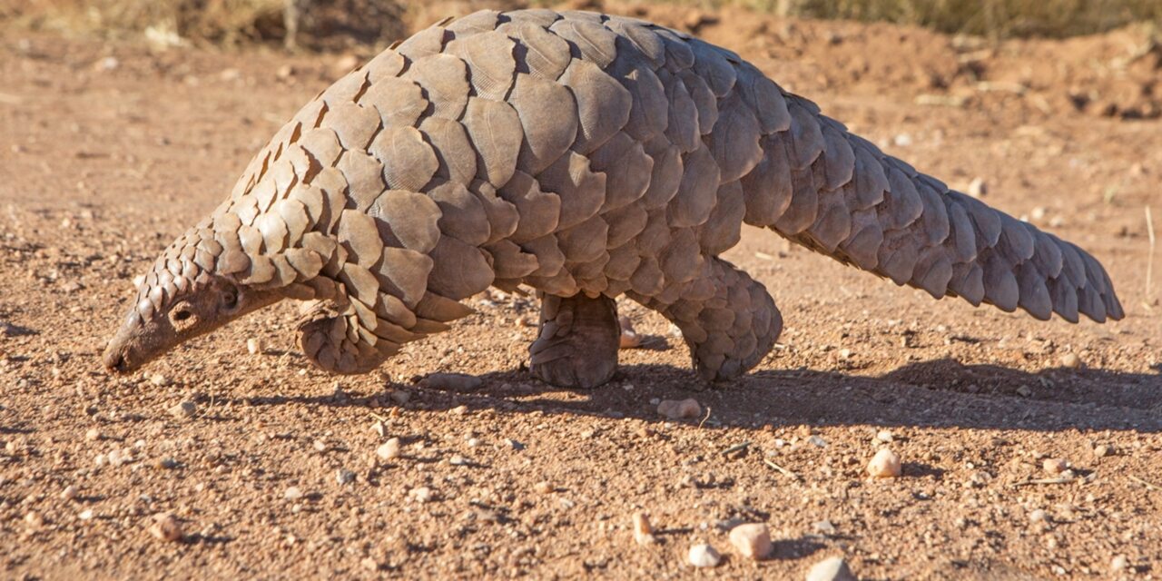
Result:
{"label": "whole grey-brown scaly pangolin walking with its tail held out", "polygon": [[617,366],[615,297],[682,332],[706,380],[782,330],[718,256],[747,223],[841,263],[1047,320],[1121,306],[1074,244],[951,191],[730,50],[640,20],[483,10],[339,79],[170,245],[105,363],[131,371],[284,299],[313,301],[307,358],[363,373],[472,313],[489,286],[541,300],[530,370],[594,387]]}

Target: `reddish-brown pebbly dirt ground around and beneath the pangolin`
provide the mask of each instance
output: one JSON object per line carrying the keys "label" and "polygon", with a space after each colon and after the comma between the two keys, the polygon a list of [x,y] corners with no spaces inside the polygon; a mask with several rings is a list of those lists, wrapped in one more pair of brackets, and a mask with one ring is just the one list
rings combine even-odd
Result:
{"label": "reddish-brown pebbly dirt ground around and beneath the pangolin", "polygon": [[[988,203],[1106,265],[1126,318],[932,301],[748,229],[726,258],[786,331],[712,390],[632,303],[648,349],[623,351],[612,383],[545,386],[524,367],[537,306],[502,293],[365,376],[304,360],[294,304],[110,376],[99,354],[132,278],[353,60],[0,29],[0,578],[802,579],[831,555],[861,579],[1162,576],[1162,259],[1148,295],[1145,217],[1162,229],[1162,50],[1134,29],[988,44],[609,9],[734,49],[955,187],[982,178]],[[432,372],[483,382],[418,385]],[[658,415],[686,397],[702,417]],[[193,417],[171,414],[182,401]],[[392,437],[402,456],[378,460]],[[867,478],[881,446],[902,478]],[[654,545],[634,543],[637,511]],[[159,512],[180,543],[149,532]],[[738,555],[738,522],[770,528],[770,559]],[[687,564],[701,541],[717,568]]]}

